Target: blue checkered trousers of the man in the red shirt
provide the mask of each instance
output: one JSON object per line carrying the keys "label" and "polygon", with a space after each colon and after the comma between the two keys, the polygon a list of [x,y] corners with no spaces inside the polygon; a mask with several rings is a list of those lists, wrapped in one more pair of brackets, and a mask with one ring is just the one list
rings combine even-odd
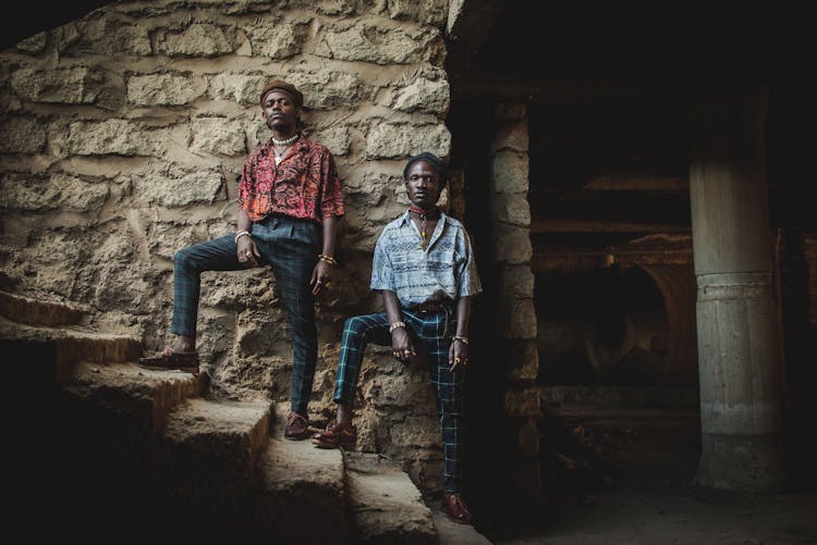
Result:
{"label": "blue checkered trousers of the man in the red shirt", "polygon": [[[258,252],[258,264],[270,265],[286,308],[292,331],[293,411],[306,414],[318,358],[318,332],[315,325],[315,297],[309,280],[318,260],[322,230],[320,224],[285,215],[270,215],[251,228]],[[235,235],[188,246],[173,257],[173,321],[176,335],[195,336],[200,274],[205,271],[239,271]]]}

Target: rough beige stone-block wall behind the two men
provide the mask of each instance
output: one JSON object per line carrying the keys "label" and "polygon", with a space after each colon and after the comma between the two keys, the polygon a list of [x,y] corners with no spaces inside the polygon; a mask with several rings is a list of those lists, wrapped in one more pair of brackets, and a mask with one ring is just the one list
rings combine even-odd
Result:
{"label": "rough beige stone-block wall behind the two men", "polygon": [[[404,210],[401,172],[448,156],[447,0],[117,2],[0,54],[0,263],[21,292],[89,305],[93,322],[172,338],[172,257],[234,231],[236,176],[270,134],[258,95],[283,77],[346,195],[345,265],[319,306],[312,417],[327,418],[343,319],[368,290],[380,228]],[[285,312],[267,270],[203,276],[199,348],[214,388],[289,395]],[[424,369],[369,351],[361,448],[405,460],[424,490],[441,449]]]}

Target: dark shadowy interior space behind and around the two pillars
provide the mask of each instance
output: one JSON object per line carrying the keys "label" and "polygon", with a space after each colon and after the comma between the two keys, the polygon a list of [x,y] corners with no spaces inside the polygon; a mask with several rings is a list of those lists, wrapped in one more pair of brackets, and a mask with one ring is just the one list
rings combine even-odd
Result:
{"label": "dark shadowy interior space behind and around the two pillars", "polygon": [[[514,441],[512,424],[497,416],[503,345],[486,218],[495,111],[524,103],[542,499],[658,473],[691,484],[700,426],[688,109],[766,89],[770,235],[778,239],[788,374],[784,442],[790,486],[814,490],[806,460],[815,451],[803,430],[817,416],[809,400],[817,386],[809,363],[817,360],[815,286],[804,244],[817,233],[805,137],[815,87],[804,73],[810,33],[803,15],[769,5],[660,14],[510,0],[479,5],[463,25],[470,32],[454,33],[447,61],[451,162],[463,171],[465,221],[485,287],[472,330],[488,369],[470,376],[471,429],[508,430]],[[476,441],[471,474],[512,465],[507,451]],[[505,481],[479,480],[475,495],[496,504],[507,491],[495,482]]]}

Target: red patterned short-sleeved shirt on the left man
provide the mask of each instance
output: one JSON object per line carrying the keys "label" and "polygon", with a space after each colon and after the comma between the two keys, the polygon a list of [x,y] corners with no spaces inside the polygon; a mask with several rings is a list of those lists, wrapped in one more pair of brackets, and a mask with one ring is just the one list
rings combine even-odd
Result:
{"label": "red patterned short-sleeved shirt on the left man", "polygon": [[270,139],[244,163],[239,202],[254,222],[272,213],[317,222],[343,215],[343,193],[331,151],[302,134],[276,165]]}

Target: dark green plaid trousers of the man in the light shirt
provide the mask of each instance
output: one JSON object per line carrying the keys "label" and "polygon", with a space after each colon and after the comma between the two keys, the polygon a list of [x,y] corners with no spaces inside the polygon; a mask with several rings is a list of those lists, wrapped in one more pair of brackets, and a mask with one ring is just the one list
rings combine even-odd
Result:
{"label": "dark green plaid trousers of the man in the light shirt", "polygon": [[[451,346],[449,332],[455,324],[449,323],[446,310],[415,312],[402,309],[403,321],[412,336],[418,355],[429,366],[431,382],[437,395],[437,414],[442,435],[444,469],[442,485],[447,492],[459,492],[462,483],[462,455],[465,433],[463,373],[449,371],[448,350]],[[391,346],[389,319],[386,313],[357,315],[346,319],[343,325],[338,374],[332,399],[352,407],[355,387],[361,374],[364,351],[368,343]]]}

